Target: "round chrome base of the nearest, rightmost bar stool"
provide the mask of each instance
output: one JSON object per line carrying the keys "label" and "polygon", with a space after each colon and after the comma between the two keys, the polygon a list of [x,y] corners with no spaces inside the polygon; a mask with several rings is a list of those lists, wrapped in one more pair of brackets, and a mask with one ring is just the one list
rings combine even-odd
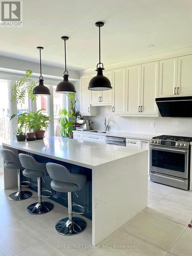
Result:
{"label": "round chrome base of the nearest, rightmost bar stool", "polygon": [[62,219],[57,222],[55,229],[63,236],[73,236],[82,232],[87,226],[86,221],[78,217],[72,217],[72,223],[69,218]]}

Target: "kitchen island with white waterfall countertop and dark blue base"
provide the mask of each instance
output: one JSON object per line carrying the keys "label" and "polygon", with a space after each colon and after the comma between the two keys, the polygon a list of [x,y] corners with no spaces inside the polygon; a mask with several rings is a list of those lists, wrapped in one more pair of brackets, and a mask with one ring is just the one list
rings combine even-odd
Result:
{"label": "kitchen island with white waterfall countertop and dark blue base", "polygon": [[[92,219],[93,245],[147,206],[146,150],[60,137],[5,142],[3,147],[16,154],[31,154],[39,162],[63,164],[70,172],[87,176],[88,188],[82,189],[80,200],[88,211],[86,217]],[[16,181],[16,172],[4,168],[5,189],[17,186]],[[36,181],[31,182],[35,190]],[[50,187],[50,177],[42,186]],[[51,199],[59,202],[59,198],[65,201],[65,197],[57,193]]]}

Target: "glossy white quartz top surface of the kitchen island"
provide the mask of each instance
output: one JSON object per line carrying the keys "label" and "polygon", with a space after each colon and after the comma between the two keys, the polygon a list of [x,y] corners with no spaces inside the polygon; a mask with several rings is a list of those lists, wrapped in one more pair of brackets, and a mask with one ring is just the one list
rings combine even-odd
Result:
{"label": "glossy white quartz top surface of the kitchen island", "polygon": [[82,140],[66,139],[61,137],[48,137],[35,141],[3,142],[3,146],[16,148],[25,152],[49,157],[76,164],[83,167],[95,166],[129,157],[143,152],[139,148],[109,145]]}

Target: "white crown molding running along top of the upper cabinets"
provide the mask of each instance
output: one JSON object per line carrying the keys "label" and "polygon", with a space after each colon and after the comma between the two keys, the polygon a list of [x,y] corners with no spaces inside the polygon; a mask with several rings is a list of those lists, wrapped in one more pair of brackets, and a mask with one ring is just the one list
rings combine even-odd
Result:
{"label": "white crown molding running along top of the upper cabinets", "polygon": [[[135,59],[131,59],[131,60],[128,60],[128,61],[119,62],[119,63],[114,63],[112,65],[106,65],[104,70],[109,71],[109,70],[112,70],[112,69],[119,69],[119,68],[144,64],[144,63],[147,63],[147,62],[158,61],[158,60],[161,60],[161,59],[175,58],[175,57],[190,55],[190,54],[192,54],[192,47],[191,46],[186,47],[186,48],[173,50],[173,51],[167,51],[167,52],[162,52],[162,53],[158,53],[158,54],[152,54],[152,55],[148,55],[148,56],[141,57],[141,58],[135,58]],[[92,74],[92,73],[95,73],[95,68],[78,71],[79,76]]]}

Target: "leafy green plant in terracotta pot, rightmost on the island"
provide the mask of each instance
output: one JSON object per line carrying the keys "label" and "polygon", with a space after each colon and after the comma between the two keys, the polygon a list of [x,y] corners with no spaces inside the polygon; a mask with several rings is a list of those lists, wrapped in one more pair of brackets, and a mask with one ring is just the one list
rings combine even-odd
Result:
{"label": "leafy green plant in terracotta pot, rightmost on the island", "polygon": [[37,140],[43,139],[45,137],[45,132],[49,128],[50,117],[42,114],[44,109],[38,111],[30,112],[31,118],[31,129],[35,132],[35,137]]}

